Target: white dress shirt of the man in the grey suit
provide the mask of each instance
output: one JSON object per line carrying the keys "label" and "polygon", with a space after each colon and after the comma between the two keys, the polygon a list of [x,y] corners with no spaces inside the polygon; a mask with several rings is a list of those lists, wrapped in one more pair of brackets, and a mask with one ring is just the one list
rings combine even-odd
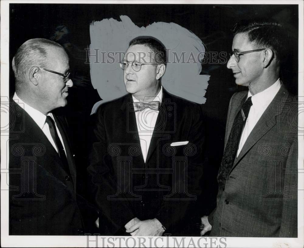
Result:
{"label": "white dress shirt of the man in the grey suit", "polygon": [[262,114],[265,112],[268,105],[271,101],[275,98],[275,95],[280,90],[282,83],[280,79],[278,79],[273,85],[268,87],[266,90],[255,94],[254,96],[251,95],[250,91],[248,91],[248,97],[251,97],[252,106],[250,108],[241,138],[239,143],[239,148],[237,150],[237,156],[240,154],[250,132],[257,124],[259,119],[261,118]]}

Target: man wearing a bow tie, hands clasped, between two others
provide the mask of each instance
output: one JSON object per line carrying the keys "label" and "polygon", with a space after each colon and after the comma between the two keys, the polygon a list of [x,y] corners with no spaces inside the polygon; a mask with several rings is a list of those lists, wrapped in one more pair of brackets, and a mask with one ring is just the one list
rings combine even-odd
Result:
{"label": "man wearing a bow tie, hands clasped, between two others", "polygon": [[88,172],[100,232],[192,234],[203,166],[201,106],[161,86],[161,42],[138,37],[129,45],[121,68],[130,94],[101,105],[93,128]]}

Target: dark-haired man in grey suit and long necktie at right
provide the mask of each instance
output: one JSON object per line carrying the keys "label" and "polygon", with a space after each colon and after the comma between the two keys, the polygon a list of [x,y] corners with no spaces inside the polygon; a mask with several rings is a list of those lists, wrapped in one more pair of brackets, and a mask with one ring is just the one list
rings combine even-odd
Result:
{"label": "dark-haired man in grey suit and long necktie at right", "polygon": [[[278,23],[234,27],[230,100],[210,236],[297,237],[298,104],[279,78],[287,34]],[[288,82],[287,82],[288,83]]]}

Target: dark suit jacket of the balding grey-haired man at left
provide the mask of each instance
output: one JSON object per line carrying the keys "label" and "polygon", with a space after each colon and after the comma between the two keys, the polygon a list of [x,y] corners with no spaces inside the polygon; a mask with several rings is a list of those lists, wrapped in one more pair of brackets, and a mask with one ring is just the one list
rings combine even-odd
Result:
{"label": "dark suit jacket of the balding grey-haired man at left", "polygon": [[10,114],[9,234],[83,234],[87,219],[83,221],[81,210],[87,211],[86,202],[76,194],[76,168],[64,119],[54,115],[69,168],[64,168],[43,131],[14,101]]}

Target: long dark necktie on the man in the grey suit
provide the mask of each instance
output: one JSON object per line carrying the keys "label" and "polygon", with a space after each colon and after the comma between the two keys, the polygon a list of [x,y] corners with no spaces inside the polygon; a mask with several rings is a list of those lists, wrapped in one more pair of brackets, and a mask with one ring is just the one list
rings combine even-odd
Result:
{"label": "long dark necktie on the man in the grey suit", "polygon": [[248,99],[243,104],[241,110],[239,111],[239,113],[237,114],[237,116],[233,121],[233,125],[222,158],[221,166],[219,168],[219,174],[217,175],[217,180],[219,182],[219,187],[221,189],[224,189],[225,187],[226,178],[232,169],[234,159],[237,155],[240,136],[244,124],[247,120],[251,105],[252,105],[251,97],[248,97]]}

